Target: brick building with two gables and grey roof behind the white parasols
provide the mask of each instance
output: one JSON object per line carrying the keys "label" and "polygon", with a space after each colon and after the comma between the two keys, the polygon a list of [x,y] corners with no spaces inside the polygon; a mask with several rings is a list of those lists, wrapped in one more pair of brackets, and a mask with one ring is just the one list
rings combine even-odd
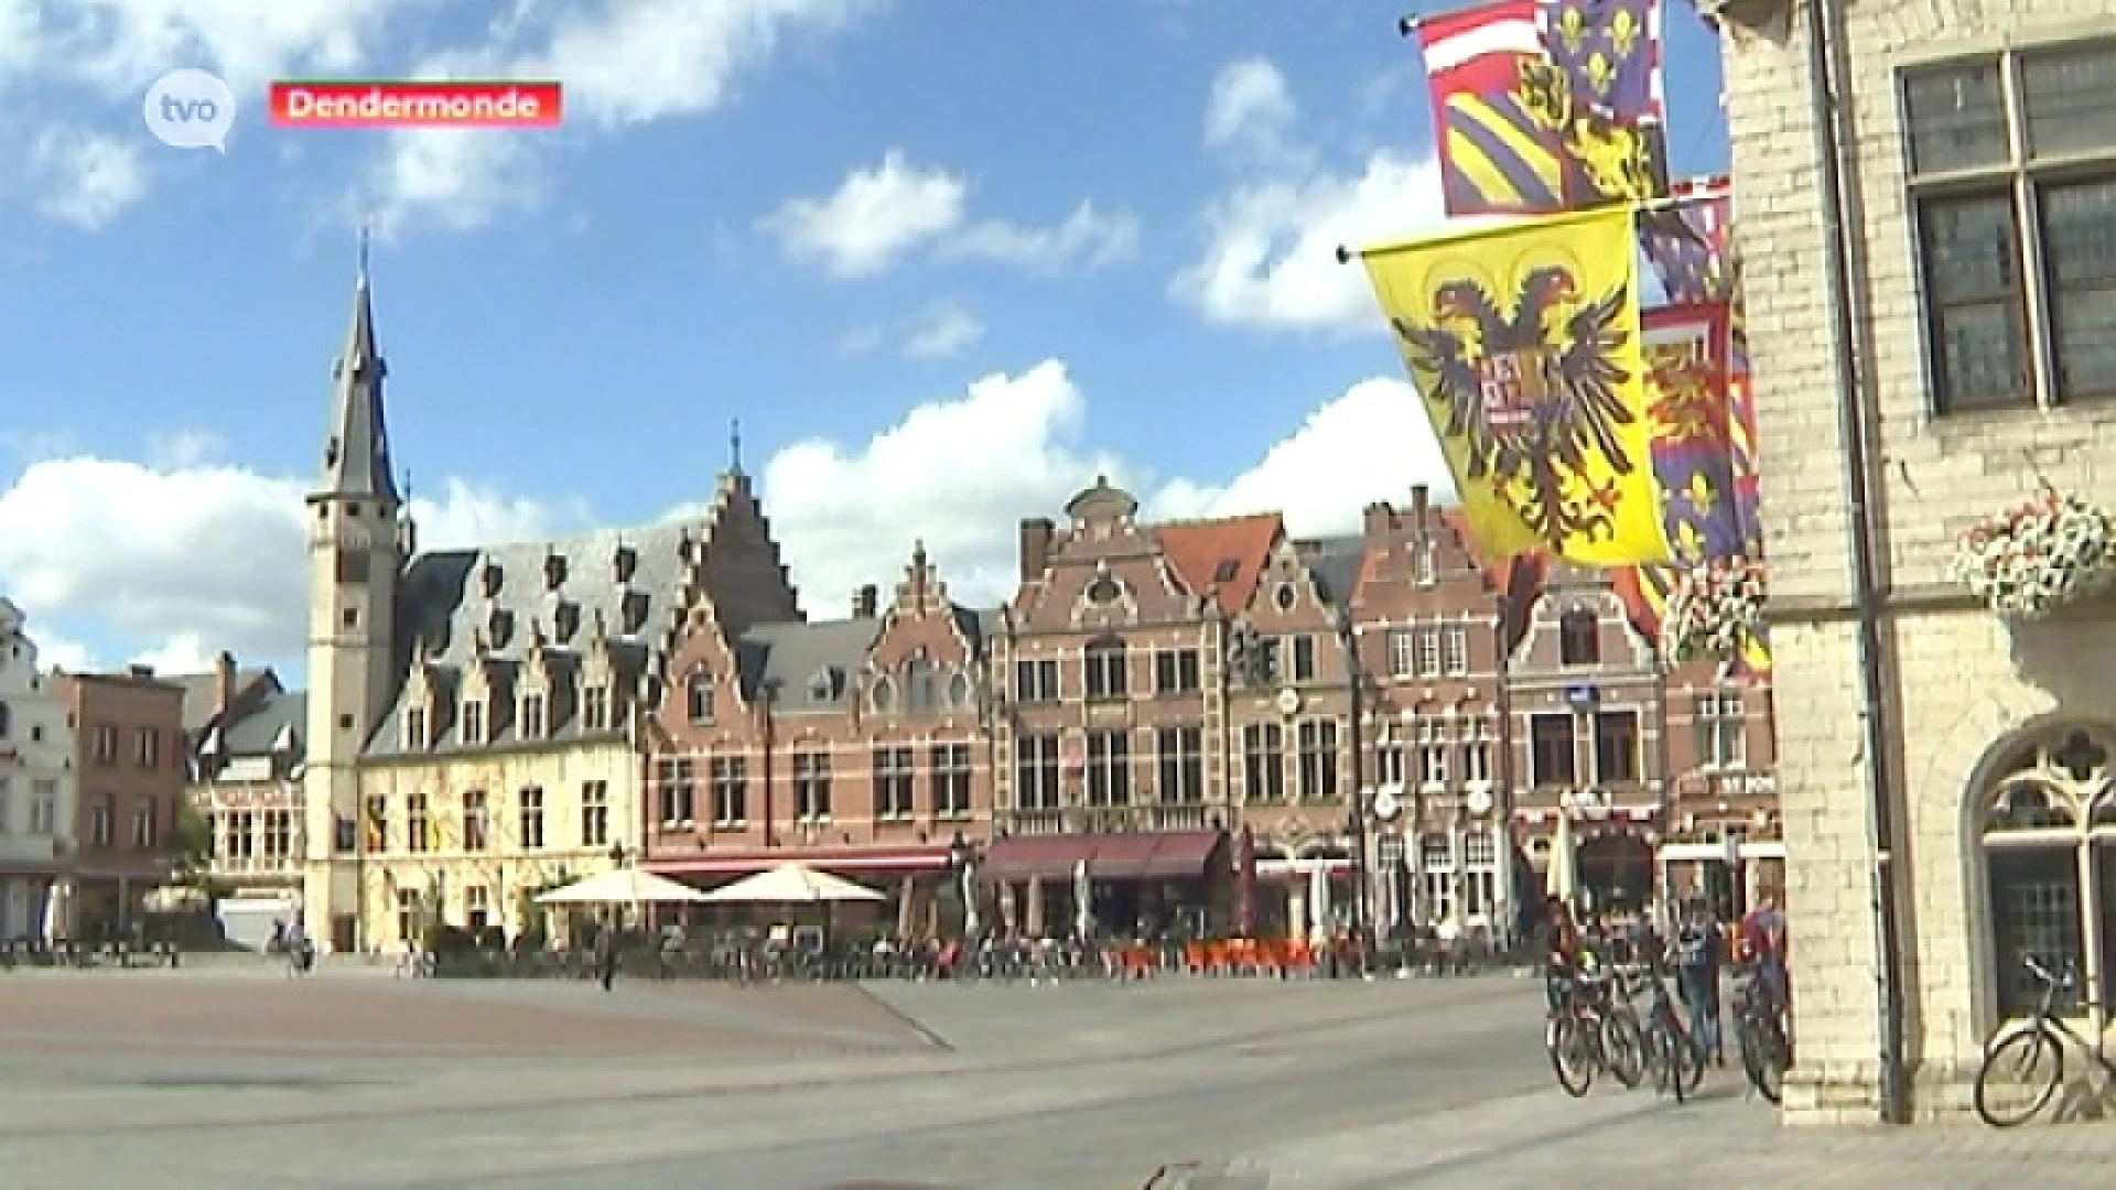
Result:
{"label": "brick building with two gables and grey roof behind the white parasols", "polygon": [[719,883],[802,862],[935,930],[950,845],[990,832],[990,616],[948,597],[925,546],[887,608],[863,587],[851,612],[732,629],[709,599],[683,614],[643,737],[645,866]]}

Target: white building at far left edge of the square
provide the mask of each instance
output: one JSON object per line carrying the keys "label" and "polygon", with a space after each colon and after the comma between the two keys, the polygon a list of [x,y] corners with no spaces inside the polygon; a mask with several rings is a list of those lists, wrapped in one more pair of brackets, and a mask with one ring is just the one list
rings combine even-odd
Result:
{"label": "white building at far left edge of the square", "polygon": [[0,942],[72,934],[74,724],[28,616],[0,599]]}

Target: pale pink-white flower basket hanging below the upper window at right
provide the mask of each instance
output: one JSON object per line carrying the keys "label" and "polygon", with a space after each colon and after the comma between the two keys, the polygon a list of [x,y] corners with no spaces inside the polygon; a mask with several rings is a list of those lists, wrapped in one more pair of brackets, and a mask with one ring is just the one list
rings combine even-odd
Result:
{"label": "pale pink-white flower basket hanging below the upper window at right", "polygon": [[1970,525],[1953,574],[1993,614],[2040,620],[2116,584],[2116,519],[2044,489],[2033,500]]}

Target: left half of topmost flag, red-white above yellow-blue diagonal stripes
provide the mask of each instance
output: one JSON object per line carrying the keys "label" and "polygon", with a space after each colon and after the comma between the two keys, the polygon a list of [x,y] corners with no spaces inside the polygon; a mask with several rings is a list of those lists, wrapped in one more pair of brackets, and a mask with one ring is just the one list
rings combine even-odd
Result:
{"label": "left half of topmost flag, red-white above yellow-blue diagonal stripes", "polygon": [[1521,85],[1545,61],[1536,2],[1498,0],[1418,25],[1449,216],[1566,205],[1562,121]]}

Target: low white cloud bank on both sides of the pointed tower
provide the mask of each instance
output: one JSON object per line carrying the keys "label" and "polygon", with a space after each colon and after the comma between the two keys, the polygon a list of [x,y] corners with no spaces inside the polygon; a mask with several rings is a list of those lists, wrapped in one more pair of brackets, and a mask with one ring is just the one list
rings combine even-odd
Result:
{"label": "low white cloud bank on both sides of the pointed tower", "polygon": [[[205,462],[34,462],[0,489],[0,591],[44,620],[161,642],[146,648],[161,656],[188,637],[205,654],[298,659],[307,487]],[[413,512],[425,548],[537,538],[586,519],[578,502],[508,498],[463,479],[415,500]]]}

